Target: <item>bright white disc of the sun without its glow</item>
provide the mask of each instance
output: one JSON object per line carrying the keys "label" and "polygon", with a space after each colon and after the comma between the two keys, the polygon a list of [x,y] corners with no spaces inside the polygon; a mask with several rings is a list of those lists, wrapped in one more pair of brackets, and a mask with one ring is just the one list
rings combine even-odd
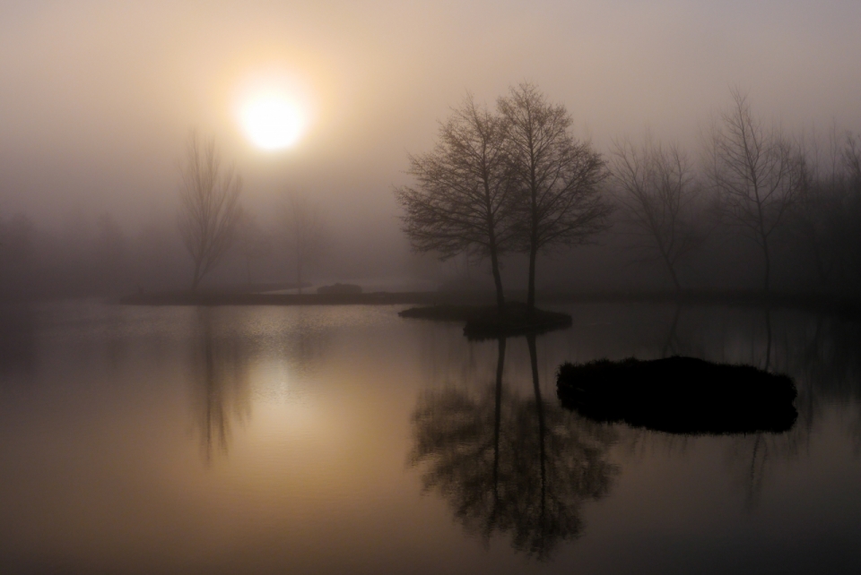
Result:
{"label": "bright white disc of the sun without its glow", "polygon": [[299,141],[304,127],[299,107],[278,95],[248,99],[239,116],[248,139],[263,150],[291,146]]}

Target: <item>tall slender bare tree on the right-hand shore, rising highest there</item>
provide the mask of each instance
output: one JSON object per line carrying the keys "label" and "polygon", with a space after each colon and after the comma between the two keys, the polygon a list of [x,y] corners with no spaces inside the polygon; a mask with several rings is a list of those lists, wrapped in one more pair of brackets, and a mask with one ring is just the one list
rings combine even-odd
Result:
{"label": "tall slender bare tree on the right-hand shore, rising highest there", "polygon": [[709,176],[726,215],[743,227],[762,250],[763,287],[770,292],[770,238],[796,200],[801,161],[777,128],[752,114],[747,96],[732,91],[733,106],[712,129]]}

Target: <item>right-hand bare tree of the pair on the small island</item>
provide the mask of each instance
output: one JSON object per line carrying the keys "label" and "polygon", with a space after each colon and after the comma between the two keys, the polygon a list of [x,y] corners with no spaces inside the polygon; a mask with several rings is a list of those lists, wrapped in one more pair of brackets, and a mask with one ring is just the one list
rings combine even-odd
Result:
{"label": "right-hand bare tree of the pair on the small island", "polygon": [[535,260],[557,245],[581,245],[608,227],[612,210],[598,185],[604,159],[570,134],[564,106],[549,104],[534,85],[522,83],[499,100],[508,123],[509,167],[517,186],[517,235],[529,253],[527,305],[535,309]]}

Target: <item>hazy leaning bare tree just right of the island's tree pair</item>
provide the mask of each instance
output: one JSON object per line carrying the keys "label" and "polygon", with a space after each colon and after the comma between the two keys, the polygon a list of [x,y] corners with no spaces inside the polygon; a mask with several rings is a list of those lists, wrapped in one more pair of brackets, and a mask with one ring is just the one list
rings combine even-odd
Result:
{"label": "hazy leaning bare tree just right of the island's tree pair", "polygon": [[632,225],[648,237],[649,255],[663,262],[681,292],[678,263],[703,239],[691,222],[697,192],[691,162],[677,146],[665,147],[647,136],[639,147],[628,140],[614,142],[611,172]]}

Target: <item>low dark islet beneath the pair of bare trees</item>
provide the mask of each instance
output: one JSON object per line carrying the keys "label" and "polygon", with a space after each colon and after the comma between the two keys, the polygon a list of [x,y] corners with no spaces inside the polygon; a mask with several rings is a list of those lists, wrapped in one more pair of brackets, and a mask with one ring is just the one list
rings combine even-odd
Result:
{"label": "low dark islet beneath the pair of bare trees", "polygon": [[428,305],[412,307],[398,313],[401,317],[466,322],[464,335],[469,339],[508,338],[518,335],[544,333],[570,327],[567,313],[530,310],[526,304],[512,302],[499,313],[495,305]]}

